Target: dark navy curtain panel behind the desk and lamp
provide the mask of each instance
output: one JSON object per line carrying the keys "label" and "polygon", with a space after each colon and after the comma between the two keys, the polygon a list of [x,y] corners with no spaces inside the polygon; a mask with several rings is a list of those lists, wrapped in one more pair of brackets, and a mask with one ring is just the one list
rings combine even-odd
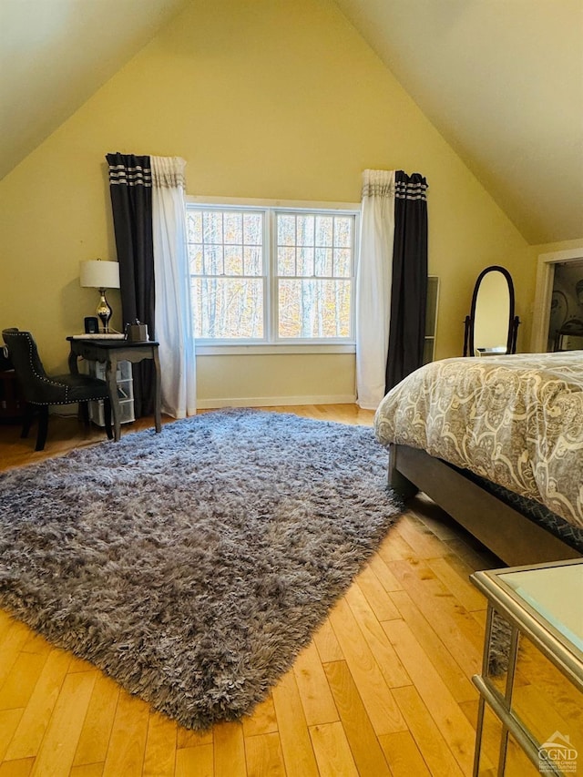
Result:
{"label": "dark navy curtain panel behind the desk and lamp", "polygon": [[[107,154],[109,192],[116,234],[123,322],[154,327],[154,250],[152,244],[152,172],[149,157]],[[136,417],[154,412],[152,362],[133,364]]]}

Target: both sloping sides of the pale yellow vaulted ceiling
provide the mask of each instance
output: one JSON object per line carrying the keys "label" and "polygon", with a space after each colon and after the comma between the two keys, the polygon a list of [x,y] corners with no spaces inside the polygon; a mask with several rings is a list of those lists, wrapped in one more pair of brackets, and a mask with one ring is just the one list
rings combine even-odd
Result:
{"label": "both sloping sides of the pale yellow vaulted ceiling", "polygon": [[[216,1],[0,0],[0,177]],[[334,2],[529,243],[583,237],[583,0]]]}

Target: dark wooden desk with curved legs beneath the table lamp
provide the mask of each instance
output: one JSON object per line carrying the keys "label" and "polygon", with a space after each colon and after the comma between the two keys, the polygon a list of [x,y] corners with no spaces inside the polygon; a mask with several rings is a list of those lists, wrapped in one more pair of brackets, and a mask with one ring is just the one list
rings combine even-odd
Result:
{"label": "dark wooden desk with curved legs beneath the table lamp", "polygon": [[159,343],[152,340],[144,342],[131,342],[129,340],[99,340],[98,338],[67,337],[71,344],[69,353],[69,372],[78,374],[77,359],[79,357],[87,362],[101,362],[106,365],[106,382],[109,389],[111,402],[111,414],[113,416],[114,440],[118,442],[121,436],[121,411],[118,397],[118,383],[116,374],[118,362],[138,363],[144,359],[154,362],[156,374],[154,395],[154,420],[156,431],[161,432],[161,391],[160,391],[160,363],[158,355]]}

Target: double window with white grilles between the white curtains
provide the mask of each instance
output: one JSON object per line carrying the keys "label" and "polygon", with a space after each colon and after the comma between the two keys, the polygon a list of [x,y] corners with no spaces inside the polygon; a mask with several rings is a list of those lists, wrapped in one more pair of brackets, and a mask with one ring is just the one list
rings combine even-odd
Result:
{"label": "double window with white grilles between the white curtains", "polygon": [[355,210],[189,203],[199,341],[353,342]]}

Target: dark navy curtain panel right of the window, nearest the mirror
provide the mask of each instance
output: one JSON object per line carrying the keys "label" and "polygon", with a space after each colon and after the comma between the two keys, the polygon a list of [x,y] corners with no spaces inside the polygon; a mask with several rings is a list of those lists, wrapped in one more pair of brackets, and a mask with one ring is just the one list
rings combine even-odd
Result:
{"label": "dark navy curtain panel right of the window, nearest the mirror", "polygon": [[393,283],[385,391],[423,364],[427,297],[427,181],[395,172]]}

